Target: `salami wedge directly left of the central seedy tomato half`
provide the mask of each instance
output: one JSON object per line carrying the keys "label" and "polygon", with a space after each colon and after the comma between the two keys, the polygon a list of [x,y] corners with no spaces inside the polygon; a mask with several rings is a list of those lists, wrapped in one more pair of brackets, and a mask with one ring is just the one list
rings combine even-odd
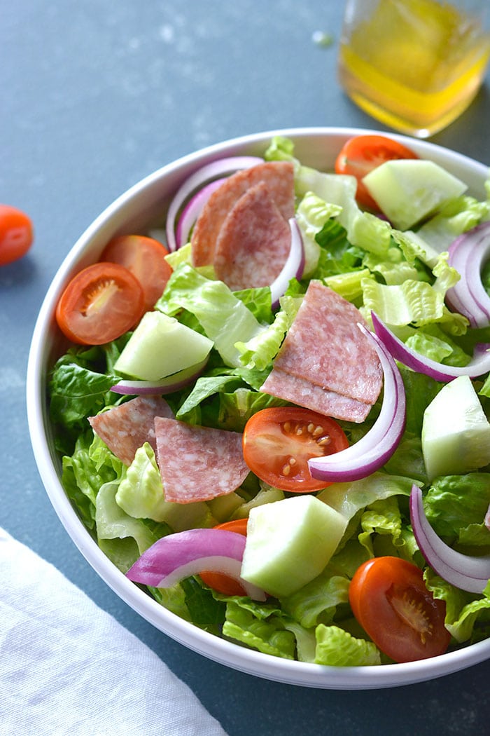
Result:
{"label": "salami wedge directly left of the central seedy tomato half", "polygon": [[250,470],[242,453],[242,434],[155,418],[156,460],[165,500],[206,501],[231,493]]}

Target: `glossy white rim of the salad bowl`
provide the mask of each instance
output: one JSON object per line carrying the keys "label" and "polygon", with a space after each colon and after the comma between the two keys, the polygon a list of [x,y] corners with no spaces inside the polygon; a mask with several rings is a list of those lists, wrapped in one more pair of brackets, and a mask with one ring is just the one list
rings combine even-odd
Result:
{"label": "glossy white rim of the salad bowl", "polygon": [[[451,169],[471,169],[475,181],[480,185],[488,176],[489,169],[458,152],[450,151],[430,141],[418,141],[404,135],[386,133],[378,130],[353,127],[299,127],[268,130],[251,135],[231,138],[181,158],[156,169],[142,180],[132,185],[105,208],[92,224],[78,238],[65,256],[46,292],[32,333],[26,372],[26,407],[29,435],[34,452],[37,470],[46,489],[51,505],[73,543],[104,582],[135,612],[155,626],[163,634],[181,645],[209,659],[263,679],[295,684],[305,687],[333,690],[370,690],[397,687],[405,684],[424,682],[454,673],[490,659],[490,639],[468,645],[439,657],[403,664],[375,665],[366,667],[331,667],[309,662],[298,662],[262,654],[224,640],[199,629],[168,611],[140,587],[129,581],[101,551],[96,541],[84,527],[78,514],[65,494],[57,472],[60,459],[49,445],[50,428],[46,403],[47,369],[53,350],[54,322],[53,305],[58,295],[80,261],[85,250],[95,242],[97,236],[109,226],[114,227],[120,213],[134,200],[145,195],[159,182],[167,179],[183,180],[194,169],[208,160],[221,156],[242,155],[257,146],[267,143],[275,135],[284,135],[295,141],[309,142],[314,138],[350,138],[353,135],[386,135],[406,146],[411,146],[420,155],[433,160],[451,161]],[[457,174],[456,174],[457,175]],[[90,259],[93,261],[93,258]],[[90,262],[89,261],[89,262]]]}

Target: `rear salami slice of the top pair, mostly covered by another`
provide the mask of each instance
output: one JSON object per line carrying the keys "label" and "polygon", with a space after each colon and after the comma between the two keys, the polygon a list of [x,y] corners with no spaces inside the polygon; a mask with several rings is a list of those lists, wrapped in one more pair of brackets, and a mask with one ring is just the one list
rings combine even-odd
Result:
{"label": "rear salami slice of the top pair, mostly covered by another", "polygon": [[214,261],[218,233],[235,202],[248,189],[264,182],[284,219],[295,213],[294,166],[289,161],[265,161],[228,177],[209,197],[195,222],[191,238],[193,266]]}

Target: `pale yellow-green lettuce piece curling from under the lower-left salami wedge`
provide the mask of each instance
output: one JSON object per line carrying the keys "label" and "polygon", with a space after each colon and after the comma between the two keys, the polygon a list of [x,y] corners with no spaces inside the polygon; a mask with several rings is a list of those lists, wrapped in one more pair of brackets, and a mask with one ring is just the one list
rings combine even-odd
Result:
{"label": "pale yellow-green lettuce piece curling from under the lower-left salami wedge", "polygon": [[213,526],[215,519],[206,503],[172,503],[165,500],[162,475],[148,442],[138,447],[134,460],[120,481],[116,503],[135,519],[166,522],[173,531]]}

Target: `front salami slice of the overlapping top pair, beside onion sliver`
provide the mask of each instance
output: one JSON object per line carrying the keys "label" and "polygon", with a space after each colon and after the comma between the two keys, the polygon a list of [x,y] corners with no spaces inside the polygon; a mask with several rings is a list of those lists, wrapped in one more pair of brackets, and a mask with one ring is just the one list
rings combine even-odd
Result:
{"label": "front salami slice of the overlapping top pair, beside onion sliver", "polygon": [[217,236],[215,272],[232,290],[270,286],[291,247],[291,231],[270,194],[259,182],[242,194]]}

